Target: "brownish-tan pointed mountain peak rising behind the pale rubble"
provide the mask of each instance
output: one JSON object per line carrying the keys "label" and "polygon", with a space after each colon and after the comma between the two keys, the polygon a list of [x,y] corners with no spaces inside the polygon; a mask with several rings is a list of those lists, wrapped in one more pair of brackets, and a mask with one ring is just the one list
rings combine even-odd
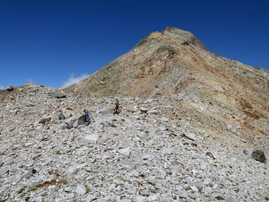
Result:
{"label": "brownish-tan pointed mountain peak rising behind the pale rubble", "polygon": [[268,71],[216,55],[191,32],[175,27],[150,33],[131,51],[64,90],[94,97],[156,98],[188,89],[253,118],[267,117]]}

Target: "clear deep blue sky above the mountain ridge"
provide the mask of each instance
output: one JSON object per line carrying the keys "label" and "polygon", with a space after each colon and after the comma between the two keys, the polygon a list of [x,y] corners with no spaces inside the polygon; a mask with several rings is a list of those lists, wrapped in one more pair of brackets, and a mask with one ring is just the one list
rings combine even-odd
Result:
{"label": "clear deep blue sky above the mountain ridge", "polygon": [[0,0],[0,86],[61,87],[166,26],[269,70],[269,0]]}

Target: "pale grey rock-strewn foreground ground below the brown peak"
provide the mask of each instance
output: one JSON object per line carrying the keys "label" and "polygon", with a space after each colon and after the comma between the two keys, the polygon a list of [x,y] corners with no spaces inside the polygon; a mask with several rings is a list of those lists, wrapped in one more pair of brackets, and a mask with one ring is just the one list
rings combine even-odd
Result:
{"label": "pale grey rock-strewn foreground ground below the brown peak", "polygon": [[120,98],[118,115],[115,98],[54,92],[0,93],[1,202],[269,200],[268,163],[251,157],[268,157],[268,119],[246,122],[195,89]]}

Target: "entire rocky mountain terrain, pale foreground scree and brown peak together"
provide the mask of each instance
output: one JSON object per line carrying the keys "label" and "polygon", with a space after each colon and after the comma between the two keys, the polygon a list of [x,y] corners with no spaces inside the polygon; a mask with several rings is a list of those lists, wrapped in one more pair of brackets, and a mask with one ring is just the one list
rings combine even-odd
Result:
{"label": "entire rocky mountain terrain, pale foreground scree and brown peak together", "polygon": [[0,202],[268,201],[268,85],[168,27],[66,89],[0,90]]}

